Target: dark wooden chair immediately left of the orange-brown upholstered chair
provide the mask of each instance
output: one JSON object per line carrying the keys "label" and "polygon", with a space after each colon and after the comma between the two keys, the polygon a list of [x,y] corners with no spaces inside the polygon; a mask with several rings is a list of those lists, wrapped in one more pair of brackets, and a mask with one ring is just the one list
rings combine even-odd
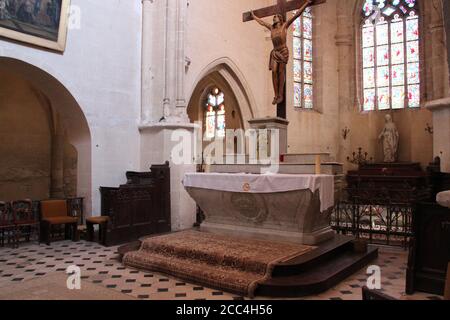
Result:
{"label": "dark wooden chair immediately left of the orange-brown upholstered chair", "polygon": [[38,230],[38,219],[33,212],[31,200],[19,200],[11,203],[14,222],[14,244],[19,246],[20,239],[25,237],[30,241],[31,236]]}

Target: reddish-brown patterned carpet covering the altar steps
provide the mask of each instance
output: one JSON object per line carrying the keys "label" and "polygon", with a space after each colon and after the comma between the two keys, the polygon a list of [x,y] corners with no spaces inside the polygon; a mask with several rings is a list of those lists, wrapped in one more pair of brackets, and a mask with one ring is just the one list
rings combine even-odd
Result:
{"label": "reddish-brown patterned carpet covering the altar steps", "polygon": [[237,239],[183,231],[145,240],[127,253],[126,266],[164,272],[185,281],[253,297],[276,263],[314,250],[300,244]]}

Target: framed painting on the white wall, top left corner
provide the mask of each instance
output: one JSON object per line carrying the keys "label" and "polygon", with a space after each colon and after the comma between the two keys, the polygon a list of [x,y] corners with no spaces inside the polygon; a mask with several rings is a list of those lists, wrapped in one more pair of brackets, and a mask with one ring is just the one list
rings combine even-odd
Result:
{"label": "framed painting on the white wall, top left corner", "polygon": [[0,0],[0,36],[64,51],[70,0]]}

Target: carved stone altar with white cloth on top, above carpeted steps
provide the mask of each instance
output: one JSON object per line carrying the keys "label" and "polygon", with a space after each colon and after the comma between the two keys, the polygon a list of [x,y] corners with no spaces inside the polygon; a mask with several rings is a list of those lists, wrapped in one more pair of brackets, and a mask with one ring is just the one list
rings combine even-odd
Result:
{"label": "carved stone altar with white cloth on top, above carpeted steps", "polygon": [[331,175],[189,173],[183,184],[203,230],[305,245],[334,236]]}

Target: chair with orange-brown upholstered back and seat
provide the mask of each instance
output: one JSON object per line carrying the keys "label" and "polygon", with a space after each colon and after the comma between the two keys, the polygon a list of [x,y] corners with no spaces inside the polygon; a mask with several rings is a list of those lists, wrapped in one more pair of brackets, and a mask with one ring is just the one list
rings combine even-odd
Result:
{"label": "chair with orange-brown upholstered back and seat", "polygon": [[[53,226],[65,226],[65,236],[72,234],[72,241],[78,241],[78,217],[70,217],[66,200],[41,201],[41,238],[40,242],[50,245]],[[71,230],[70,230],[71,229]]]}

